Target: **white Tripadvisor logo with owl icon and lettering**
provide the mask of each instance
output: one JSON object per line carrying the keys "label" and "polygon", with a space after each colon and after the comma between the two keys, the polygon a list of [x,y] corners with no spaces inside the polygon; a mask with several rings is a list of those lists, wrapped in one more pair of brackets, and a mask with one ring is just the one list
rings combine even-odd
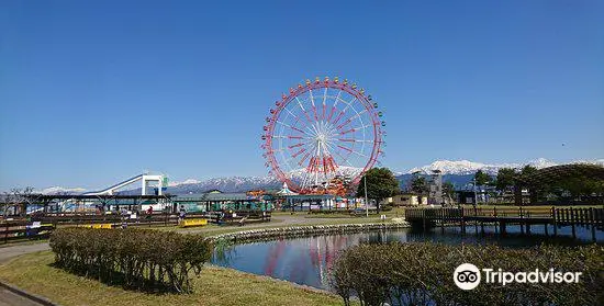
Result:
{"label": "white Tripadvisor logo with owl icon and lettering", "polygon": [[[484,282],[506,285],[510,283],[579,283],[582,272],[560,272],[555,269],[546,271],[535,269],[530,272],[505,272],[502,269],[483,268]],[[481,281],[481,270],[471,263],[462,263],[454,272],[454,282],[461,290],[473,290]]]}

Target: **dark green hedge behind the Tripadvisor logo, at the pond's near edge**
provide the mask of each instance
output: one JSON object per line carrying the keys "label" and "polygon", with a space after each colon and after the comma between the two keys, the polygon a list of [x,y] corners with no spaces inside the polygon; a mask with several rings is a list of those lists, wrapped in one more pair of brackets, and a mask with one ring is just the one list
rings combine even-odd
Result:
{"label": "dark green hedge behind the Tripadvisor logo, at the pond's near edge", "polygon": [[[579,283],[485,283],[463,291],[452,274],[461,263],[506,272],[582,272]],[[345,305],[604,305],[604,247],[446,246],[429,242],[359,245],[338,254],[331,283]]]}

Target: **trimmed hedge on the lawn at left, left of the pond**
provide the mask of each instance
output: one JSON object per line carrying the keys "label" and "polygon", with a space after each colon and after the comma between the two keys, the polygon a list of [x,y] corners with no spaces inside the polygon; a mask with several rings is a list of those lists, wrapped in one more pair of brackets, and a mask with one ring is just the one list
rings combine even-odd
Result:
{"label": "trimmed hedge on the lawn at left, left of the pond", "polygon": [[51,236],[55,264],[69,272],[138,290],[191,292],[212,242],[200,235],[149,229],[60,228]]}

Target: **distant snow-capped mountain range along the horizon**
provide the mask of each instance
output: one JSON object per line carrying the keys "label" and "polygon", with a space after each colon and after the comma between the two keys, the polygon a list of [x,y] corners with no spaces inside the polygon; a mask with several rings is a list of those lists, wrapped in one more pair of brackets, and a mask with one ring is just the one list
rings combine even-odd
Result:
{"label": "distant snow-capped mountain range along the horizon", "polygon": [[[577,160],[570,163],[595,163],[604,166],[604,159],[596,160]],[[396,177],[404,182],[409,179],[411,173],[420,171],[421,173],[433,173],[434,170],[440,170],[441,174],[446,175],[445,179],[455,179],[456,177],[467,178],[469,174],[476,173],[478,170],[482,170],[489,174],[496,174],[500,168],[522,168],[525,165],[530,165],[537,169],[557,166],[559,163],[539,158],[532,160],[527,163],[481,163],[469,160],[437,160],[430,165],[423,167],[415,167],[405,172],[395,172]],[[342,173],[345,175],[356,175],[361,169],[343,167]],[[290,172],[292,178],[301,178],[304,175],[305,169],[294,170]],[[254,189],[279,189],[281,182],[272,177],[227,177],[227,178],[214,178],[209,180],[188,179],[181,182],[170,182],[168,191],[171,194],[190,194],[201,193],[209,190],[221,190],[223,192],[242,192]],[[65,188],[48,188],[42,191],[37,191],[44,194],[53,194],[58,192],[81,193],[85,189],[65,189]]]}

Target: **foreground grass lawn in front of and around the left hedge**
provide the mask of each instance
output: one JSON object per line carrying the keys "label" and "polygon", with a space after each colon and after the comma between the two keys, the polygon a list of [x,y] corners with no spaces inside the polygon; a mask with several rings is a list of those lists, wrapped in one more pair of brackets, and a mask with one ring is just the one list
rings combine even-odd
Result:
{"label": "foreground grass lawn in front of and around the left hedge", "polygon": [[0,265],[0,279],[61,305],[342,305],[339,296],[284,281],[209,265],[192,294],[146,294],[67,273],[51,251]]}

